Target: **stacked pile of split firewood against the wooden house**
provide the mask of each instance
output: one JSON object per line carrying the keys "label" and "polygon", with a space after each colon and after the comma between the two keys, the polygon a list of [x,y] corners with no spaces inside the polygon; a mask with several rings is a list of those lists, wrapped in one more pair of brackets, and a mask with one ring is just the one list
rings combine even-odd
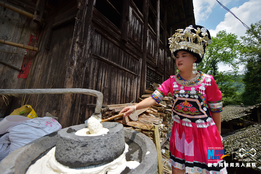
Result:
{"label": "stacked pile of split firewood against the wooden house", "polygon": [[[138,102],[148,98],[160,85],[153,83],[149,90],[145,90],[145,94],[141,98],[138,98]],[[154,104],[153,106],[141,110],[136,110],[135,113],[128,117],[115,118],[114,122],[122,123],[124,127],[133,129],[143,133],[153,140],[154,125],[157,125],[160,133],[160,142],[164,143],[167,139],[167,134],[171,132],[173,120],[171,116],[172,108],[172,97],[168,93],[160,104]],[[108,105],[102,108],[102,119],[107,119],[119,114],[119,112],[126,106],[134,105],[137,103],[126,103],[126,104],[114,104]]]}

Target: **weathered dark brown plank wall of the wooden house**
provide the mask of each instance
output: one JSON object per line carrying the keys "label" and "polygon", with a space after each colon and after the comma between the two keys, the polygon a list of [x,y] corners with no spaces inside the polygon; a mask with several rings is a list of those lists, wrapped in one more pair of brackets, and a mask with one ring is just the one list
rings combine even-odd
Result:
{"label": "weathered dark brown plank wall of the wooden house", "polygon": [[[103,104],[107,105],[127,103],[140,97],[146,84],[146,66],[162,76],[165,68],[166,78],[173,75],[174,62],[169,52],[164,53],[166,49],[160,40],[158,51],[155,50],[158,36],[148,25],[149,0],[144,0],[142,12],[130,1],[127,43],[121,39],[121,30],[93,7],[93,2],[82,1],[78,12],[76,1],[48,12],[47,24],[41,29],[38,43],[40,51],[33,59],[31,77],[17,79],[17,70],[0,64],[0,80],[6,83],[1,83],[0,88],[25,88],[28,81],[28,88],[51,88],[54,84],[52,88],[94,89],[104,94]],[[14,13],[5,10],[0,14],[0,28],[12,28],[9,31],[15,36],[12,41],[26,42],[37,26],[31,19]],[[15,26],[9,20],[12,16],[16,16]],[[4,55],[5,61],[21,66],[24,50],[9,47],[8,51],[19,52],[19,59],[15,55],[0,54]],[[6,46],[0,45],[0,49],[4,48]],[[156,54],[158,68],[155,66]],[[17,108],[21,97],[13,104],[12,109]],[[82,124],[89,118],[94,108],[89,108],[88,104],[96,104],[96,99],[81,94],[32,95],[28,104],[40,117],[49,112],[59,118],[63,127],[68,127]]]}

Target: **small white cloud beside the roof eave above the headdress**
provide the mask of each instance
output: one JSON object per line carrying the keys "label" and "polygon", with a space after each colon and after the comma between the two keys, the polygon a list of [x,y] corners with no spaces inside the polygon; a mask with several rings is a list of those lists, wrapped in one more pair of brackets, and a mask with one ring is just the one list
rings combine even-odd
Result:
{"label": "small white cloud beside the roof eave above the headdress", "polygon": [[[232,0],[221,0],[220,2],[226,6]],[[219,5],[216,0],[193,0],[194,15],[196,23],[205,21],[212,13],[212,9]]]}

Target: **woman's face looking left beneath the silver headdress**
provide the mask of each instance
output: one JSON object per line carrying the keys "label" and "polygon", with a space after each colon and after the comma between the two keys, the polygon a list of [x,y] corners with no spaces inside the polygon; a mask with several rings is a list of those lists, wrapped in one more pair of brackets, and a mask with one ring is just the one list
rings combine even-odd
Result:
{"label": "woman's face looking left beneath the silver headdress", "polygon": [[180,71],[187,71],[193,68],[193,63],[197,60],[195,56],[186,51],[177,52],[176,65]]}

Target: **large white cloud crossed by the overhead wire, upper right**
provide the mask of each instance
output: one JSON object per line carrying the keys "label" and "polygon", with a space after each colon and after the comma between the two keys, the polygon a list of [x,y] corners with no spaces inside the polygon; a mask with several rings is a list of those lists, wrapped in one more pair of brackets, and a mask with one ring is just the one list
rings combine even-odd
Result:
{"label": "large white cloud crossed by the overhead wire, upper right", "polygon": [[[256,23],[260,20],[261,1],[250,0],[249,2],[245,2],[242,6],[231,8],[230,11],[247,26],[250,26],[251,23]],[[244,27],[231,13],[227,12],[224,21],[221,21],[215,30],[209,30],[209,32],[211,36],[216,36],[217,32],[220,30],[226,30],[228,33],[231,32],[240,37],[245,35],[246,27]]]}

